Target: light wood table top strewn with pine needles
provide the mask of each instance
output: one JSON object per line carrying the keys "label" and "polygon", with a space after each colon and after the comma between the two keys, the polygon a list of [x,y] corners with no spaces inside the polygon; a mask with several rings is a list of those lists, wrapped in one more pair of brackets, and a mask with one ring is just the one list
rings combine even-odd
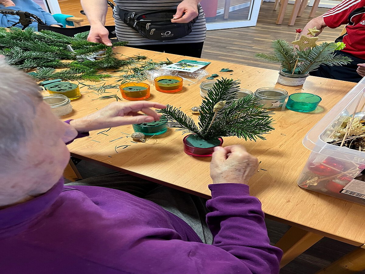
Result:
{"label": "light wood table top strewn with pine needles", "polygon": [[[115,50],[125,56],[143,54],[155,61],[165,60],[166,57],[171,61],[184,58],[127,47],[118,47]],[[245,57],[237,56],[237,58]],[[277,84],[277,71],[219,61],[211,62],[205,68],[209,73],[239,79],[242,82],[241,87],[251,91],[261,87],[284,88],[289,94],[303,91],[298,90],[301,87],[285,87]],[[219,72],[222,68],[230,68],[234,72]],[[116,79],[118,78],[107,79],[105,82],[115,84]],[[251,195],[260,199],[267,217],[360,246],[365,243],[365,207],[363,205],[306,191],[296,183],[310,154],[310,151],[301,143],[303,137],[354,85],[350,82],[309,76],[302,88],[305,92],[322,97],[322,102],[315,113],[297,113],[287,109],[275,111],[273,115],[276,120],[275,130],[266,134],[266,141],[246,142],[236,137],[225,137],[223,146],[245,145],[249,153],[262,161],[260,168],[267,171],[261,170],[254,175],[249,185]],[[185,84],[183,91],[168,94],[156,91],[151,85],[149,100],[181,107],[181,110],[190,113],[191,107],[201,104],[199,90],[199,83]],[[88,90],[82,88],[81,91]],[[119,90],[109,91],[121,97]],[[82,117],[114,100],[93,100],[98,97],[93,93],[83,93],[80,99],[72,101],[74,111],[62,119]],[[197,120],[197,116],[193,118]],[[112,128],[105,132],[108,135],[97,134],[101,131],[91,132],[91,138],[81,138],[68,145],[72,155],[202,197],[210,197],[208,184],[211,183],[209,176],[211,158],[186,155],[183,151],[183,136],[180,132],[169,129],[165,134],[155,136],[154,140],[134,143],[124,134],[134,132],[131,125]],[[119,137],[123,138],[112,141]],[[130,146],[125,149],[119,148],[117,153],[115,146],[121,145]]]}

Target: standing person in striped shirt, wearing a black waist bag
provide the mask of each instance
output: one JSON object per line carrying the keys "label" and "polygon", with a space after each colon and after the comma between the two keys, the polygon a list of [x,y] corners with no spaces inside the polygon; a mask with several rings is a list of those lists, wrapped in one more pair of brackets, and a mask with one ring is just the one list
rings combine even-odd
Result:
{"label": "standing person in striped shirt, wearing a black waist bag", "polygon": [[[138,31],[120,19],[115,9],[113,11],[117,38],[119,41],[129,42],[128,46],[191,57],[201,56],[206,27],[200,0],[115,0],[114,2],[119,8],[133,12],[176,9],[176,14],[171,18],[172,23],[188,23],[198,16],[190,34],[162,42],[142,37]],[[91,25],[88,41],[111,45],[109,32],[104,27],[107,14],[106,0],[81,0],[81,4]]]}

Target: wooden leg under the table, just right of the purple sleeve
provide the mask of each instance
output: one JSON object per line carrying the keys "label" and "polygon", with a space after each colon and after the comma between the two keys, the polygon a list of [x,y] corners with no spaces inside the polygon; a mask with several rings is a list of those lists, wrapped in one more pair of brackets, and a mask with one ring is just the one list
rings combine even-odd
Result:
{"label": "wooden leg under the table, just right of the purple sleeve", "polygon": [[280,262],[280,267],[287,265],[297,256],[317,243],[323,236],[305,231],[300,228],[291,227],[287,233],[275,244],[283,250],[284,255]]}

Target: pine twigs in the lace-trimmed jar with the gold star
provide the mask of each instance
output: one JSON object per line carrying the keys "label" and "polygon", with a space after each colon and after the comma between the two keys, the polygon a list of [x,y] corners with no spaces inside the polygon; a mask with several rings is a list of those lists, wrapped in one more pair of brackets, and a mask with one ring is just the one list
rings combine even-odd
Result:
{"label": "pine twigs in the lace-trimmed jar with the gold star", "polygon": [[[272,42],[273,54],[256,53],[255,58],[269,61],[280,62],[284,72],[294,74],[306,74],[314,71],[320,65],[346,65],[352,60],[345,56],[336,55],[334,52],[339,48],[338,43],[323,42],[316,47],[308,47],[304,50],[293,48],[283,39]],[[298,60],[298,62],[297,62]],[[297,66],[296,66],[297,63]]]}

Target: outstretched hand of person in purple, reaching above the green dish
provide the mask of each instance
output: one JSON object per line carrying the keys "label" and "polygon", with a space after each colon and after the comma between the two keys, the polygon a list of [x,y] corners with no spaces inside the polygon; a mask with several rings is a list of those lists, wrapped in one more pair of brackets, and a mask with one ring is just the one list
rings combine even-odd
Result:
{"label": "outstretched hand of person in purple, reaching above the green dish", "polygon": [[[114,102],[108,106],[89,114],[80,119],[70,122],[78,132],[112,128],[114,126],[138,124],[160,120],[161,114],[150,109],[165,109],[166,106],[159,103],[137,101],[137,102]],[[144,114],[139,113],[142,111]]]}

